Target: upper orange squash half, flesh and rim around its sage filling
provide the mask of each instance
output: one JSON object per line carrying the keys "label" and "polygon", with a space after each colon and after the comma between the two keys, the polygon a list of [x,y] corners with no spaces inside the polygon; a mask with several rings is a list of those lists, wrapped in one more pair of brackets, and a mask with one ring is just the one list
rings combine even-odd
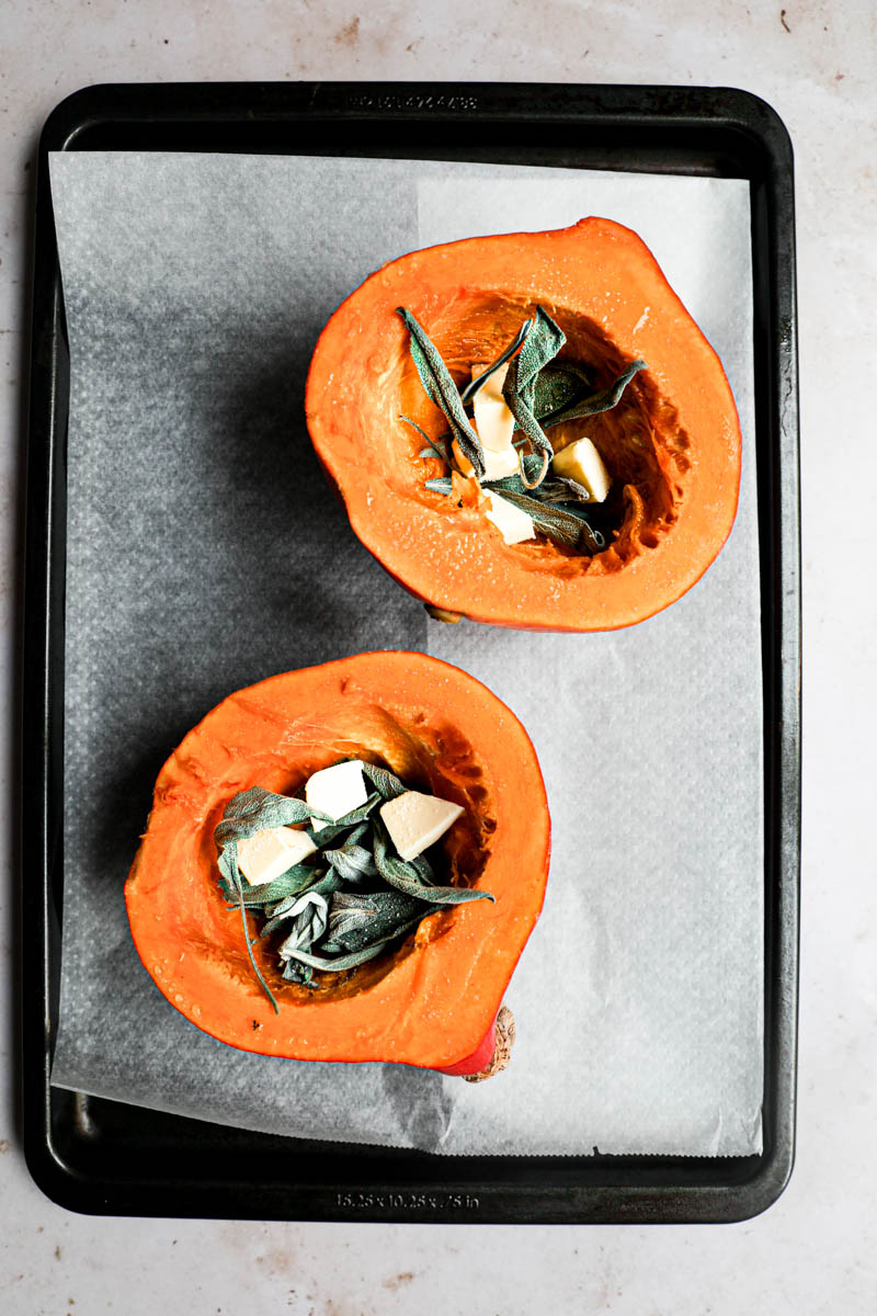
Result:
{"label": "upper orange squash half, flesh and rim around its sage filling", "polygon": [[[506,545],[455,475],[417,454],[447,430],[429,401],[396,315],[423,325],[458,386],[544,307],[567,334],[559,361],[592,367],[598,388],[631,361],[618,408],[552,428],[556,450],[586,433],[614,479],[615,533],[592,557],[539,537]],[[630,229],[573,228],[468,238],[401,257],[371,275],[323,329],[306,415],[314,450],[350,524],[427,605],[517,629],[611,630],[667,608],[722,549],[736,513],[740,428],[718,357]]]}

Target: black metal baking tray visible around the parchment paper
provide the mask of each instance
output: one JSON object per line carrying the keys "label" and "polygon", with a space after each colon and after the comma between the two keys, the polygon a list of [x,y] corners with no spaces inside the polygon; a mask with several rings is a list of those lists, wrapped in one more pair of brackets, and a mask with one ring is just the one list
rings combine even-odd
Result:
{"label": "black metal baking tray visible around the parchment paper", "polygon": [[[764,1152],[743,1158],[433,1157],[200,1123],[49,1082],[63,888],[70,359],[49,153],[252,151],[464,159],[749,180],[764,672]],[[444,1223],[747,1219],[794,1157],[799,870],[799,495],[792,146],[742,91],[560,84],[89,87],[38,158],[22,649],[24,1142],[39,1187],[105,1215]]]}

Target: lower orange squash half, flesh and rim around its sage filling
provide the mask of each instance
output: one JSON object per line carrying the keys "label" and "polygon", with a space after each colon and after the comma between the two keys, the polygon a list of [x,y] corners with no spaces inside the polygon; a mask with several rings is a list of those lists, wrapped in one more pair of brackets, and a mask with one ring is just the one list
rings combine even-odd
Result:
{"label": "lower orange squash half, flesh and rim around its sage filling", "polygon": [[[276,951],[256,944],[275,1013],[249,965],[241,913],[217,888],[213,832],[239,791],[293,794],[343,755],[462,804],[444,837],[451,879],[496,900],[430,915],[400,949],[350,973],[317,973],[314,991],[284,982]],[[125,886],[131,936],[167,1000],[231,1046],[473,1073],[542,909],[550,834],[535,751],[496,695],[421,653],[356,654],[241,690],[185,736],[159,774]]]}

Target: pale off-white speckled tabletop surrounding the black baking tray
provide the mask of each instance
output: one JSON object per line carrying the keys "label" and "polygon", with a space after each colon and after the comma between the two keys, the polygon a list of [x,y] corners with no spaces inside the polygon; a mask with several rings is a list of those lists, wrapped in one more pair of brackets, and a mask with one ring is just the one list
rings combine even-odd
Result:
{"label": "pale off-white speckled tabletop surrounding the black baking tray", "polygon": [[[736,86],[785,120],[797,157],[805,772],[798,1163],[764,1216],[726,1227],[296,1225],[101,1220],[28,1177],[14,1096],[7,813],[0,954],[9,1082],[0,1105],[0,1292],[14,1313],[180,1308],[355,1316],[444,1311],[623,1316],[841,1313],[877,1307],[877,1088],[870,837],[877,483],[877,32],[870,0],[749,7],[610,0],[473,9],[351,0],[5,0],[0,11],[0,471],[4,778],[13,797],[17,517],[29,176],[51,107],[97,82],[440,79]],[[864,505],[848,486],[861,491]],[[861,497],[861,495],[860,495]],[[843,500],[843,504],[841,504]],[[841,509],[843,508],[843,509]],[[168,1203],[168,1211],[172,1203]]]}

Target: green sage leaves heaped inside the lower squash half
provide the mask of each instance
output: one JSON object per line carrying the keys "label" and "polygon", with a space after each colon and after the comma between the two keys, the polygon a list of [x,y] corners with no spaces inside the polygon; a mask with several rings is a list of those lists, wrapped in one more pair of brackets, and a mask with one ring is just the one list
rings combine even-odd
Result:
{"label": "green sage leaves heaped inside the lower squash half", "polygon": [[[331,766],[348,762],[338,759]],[[277,1001],[252,954],[258,941],[280,936],[284,979],[314,986],[314,970],[356,969],[398,945],[427,915],[494,899],[488,891],[442,886],[426,853],[400,857],[380,809],[409,794],[409,787],[388,769],[359,762],[371,794],[342,817],[333,819],[301,797],[254,786],[229,801],[214,830],[220,891],[229,908],[241,911],[250,965],[277,1013]],[[322,825],[317,828],[314,821]],[[296,825],[309,842],[298,849],[306,845],[313,850],[270,882],[252,886],[241,873],[238,848],[259,833]],[[258,937],[250,937],[247,915],[262,923]]]}

